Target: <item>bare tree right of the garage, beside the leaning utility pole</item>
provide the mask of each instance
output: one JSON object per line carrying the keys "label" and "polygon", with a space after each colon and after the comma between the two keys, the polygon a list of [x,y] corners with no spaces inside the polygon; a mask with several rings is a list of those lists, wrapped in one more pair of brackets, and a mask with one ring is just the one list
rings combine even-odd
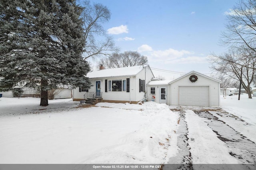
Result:
{"label": "bare tree right of the garage, beside the leaning utility pole", "polygon": [[223,55],[215,55],[212,53],[210,56],[210,62],[212,63],[211,68],[221,72],[222,74],[230,76],[237,81],[241,80],[243,88],[248,93],[248,97],[252,98],[250,93],[250,85],[252,84],[256,74],[255,55],[256,52],[253,50],[242,49],[230,49]]}

